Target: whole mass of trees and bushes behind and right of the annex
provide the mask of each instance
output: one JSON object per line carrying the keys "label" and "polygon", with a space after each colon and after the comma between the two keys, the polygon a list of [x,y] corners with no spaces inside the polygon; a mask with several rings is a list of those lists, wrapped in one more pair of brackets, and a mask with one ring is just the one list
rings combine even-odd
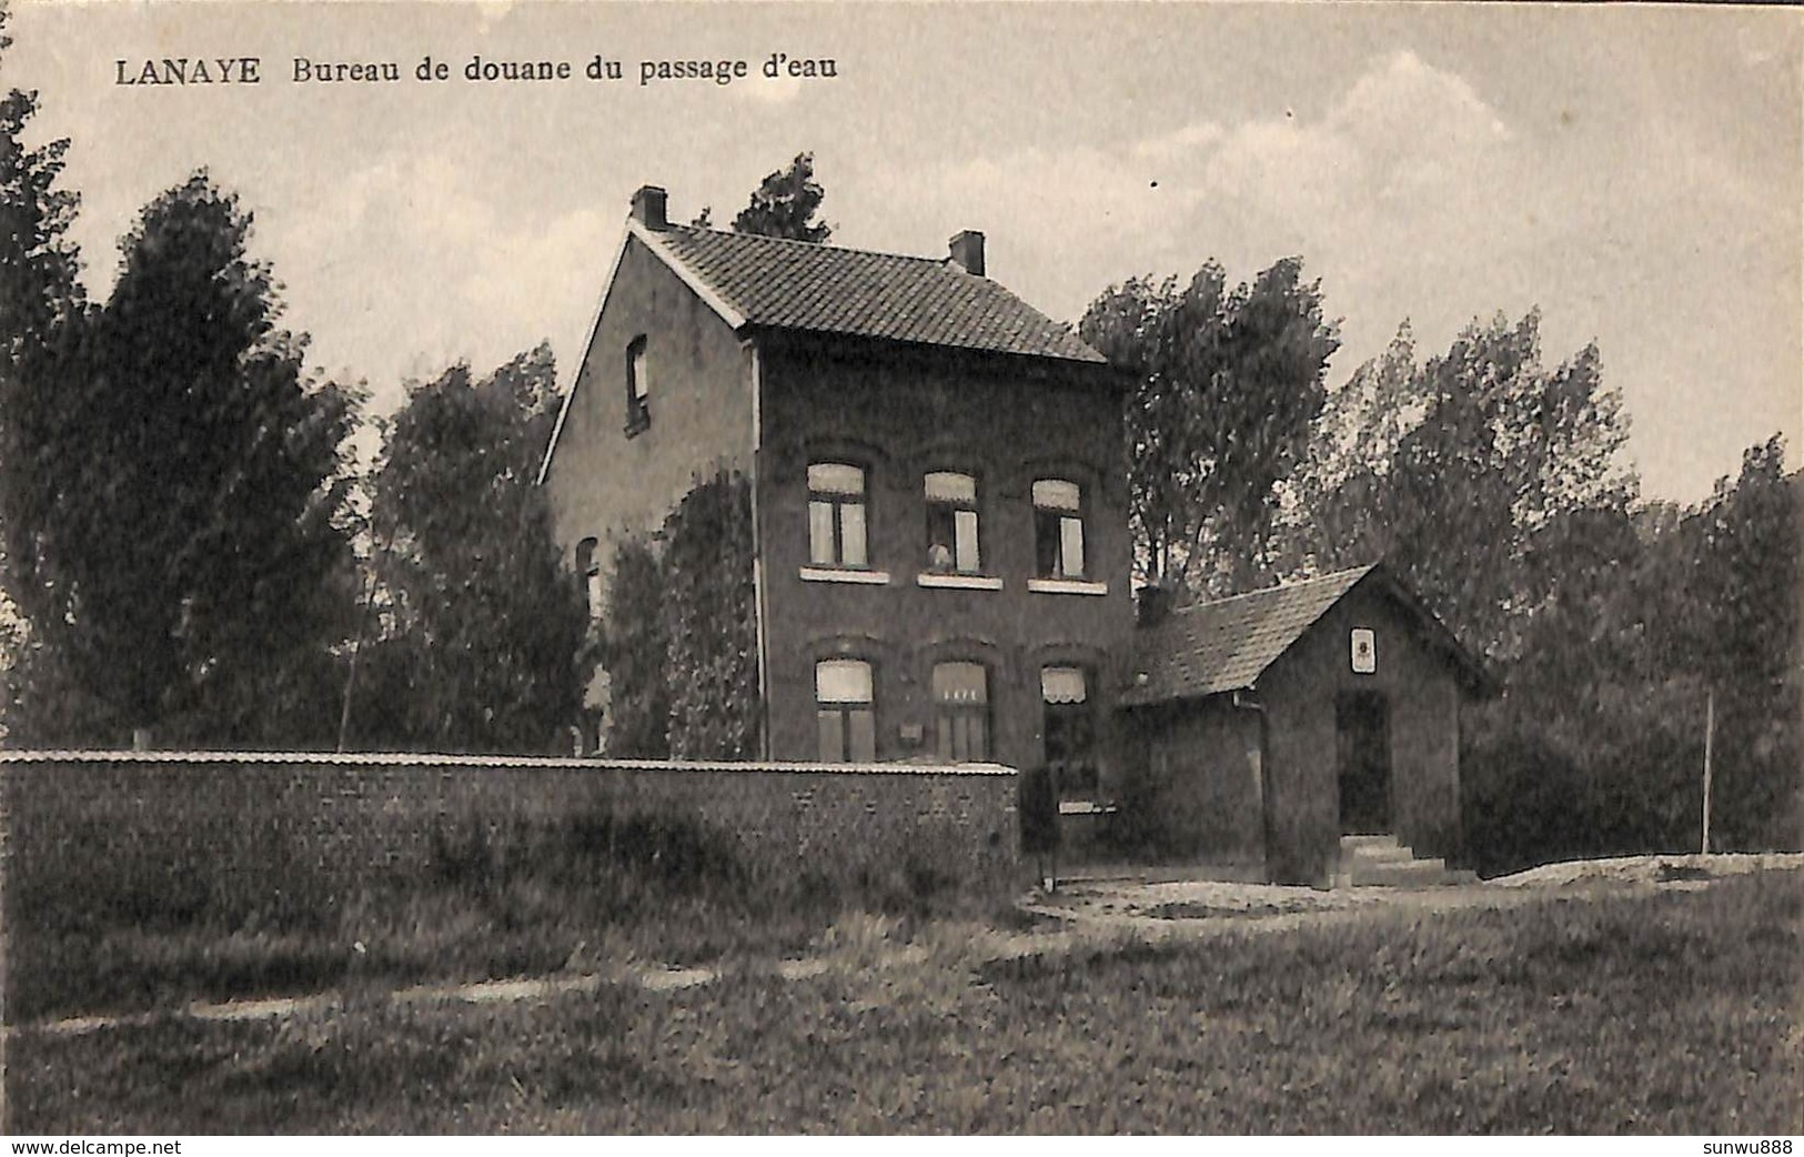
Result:
{"label": "whole mass of trees and bushes behind and right of the annex", "polygon": [[1797,486],[1775,439],[1696,509],[1636,504],[1595,347],[1548,366],[1539,316],[1420,361],[1407,329],[1330,395],[1275,531],[1292,574],[1384,558],[1503,682],[1467,713],[1483,870],[1795,845]]}

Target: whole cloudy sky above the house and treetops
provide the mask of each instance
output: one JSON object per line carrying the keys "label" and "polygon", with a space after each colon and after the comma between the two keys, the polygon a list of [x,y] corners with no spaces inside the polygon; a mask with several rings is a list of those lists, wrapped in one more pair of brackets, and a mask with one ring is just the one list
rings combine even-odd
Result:
{"label": "whole cloudy sky above the house and treetops", "polygon": [[[1586,343],[1651,498],[1696,502],[1804,430],[1804,14],[1393,4],[70,4],[14,0],[0,85],[36,88],[90,294],[144,202],[206,166],[321,374],[404,383],[548,339],[568,384],[635,188],[729,222],[812,150],[833,242],[943,255],[1075,321],[1128,276],[1297,255],[1342,348],[1422,356],[1539,307]],[[761,76],[774,52],[833,78]],[[449,81],[413,79],[424,56]],[[570,61],[570,81],[462,79]],[[583,79],[595,56],[622,81]],[[262,83],[119,85],[146,58]],[[294,60],[400,83],[296,83]],[[639,61],[752,76],[639,83]]]}

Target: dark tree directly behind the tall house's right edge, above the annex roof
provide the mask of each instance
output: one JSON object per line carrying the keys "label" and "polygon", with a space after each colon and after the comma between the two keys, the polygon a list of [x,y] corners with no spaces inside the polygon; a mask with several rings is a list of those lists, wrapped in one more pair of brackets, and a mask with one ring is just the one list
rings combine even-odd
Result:
{"label": "dark tree directly behind the tall house's right edge, above the annex roof", "polygon": [[1322,408],[1335,329],[1299,258],[1232,291],[1216,262],[1182,289],[1135,278],[1084,312],[1084,341],[1138,379],[1126,412],[1129,522],[1147,579],[1220,592],[1270,574],[1277,486]]}

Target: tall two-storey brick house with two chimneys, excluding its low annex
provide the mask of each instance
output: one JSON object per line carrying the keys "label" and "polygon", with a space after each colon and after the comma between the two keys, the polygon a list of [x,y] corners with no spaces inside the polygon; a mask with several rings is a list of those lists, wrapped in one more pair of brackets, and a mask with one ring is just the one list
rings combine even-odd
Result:
{"label": "tall two-storey brick house with two chimneys, excluding its low annex", "polygon": [[696,478],[750,480],[763,754],[1120,776],[1122,379],[943,258],[671,224],[644,188],[541,471],[590,572]]}

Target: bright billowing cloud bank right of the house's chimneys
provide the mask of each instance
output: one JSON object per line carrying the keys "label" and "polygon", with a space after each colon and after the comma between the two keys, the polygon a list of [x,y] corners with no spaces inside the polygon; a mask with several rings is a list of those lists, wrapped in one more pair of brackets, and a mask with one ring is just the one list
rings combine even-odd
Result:
{"label": "bright billowing cloud bank right of the house's chimneys", "polygon": [[[1331,287],[1373,287],[1402,255],[1441,262],[1483,242],[1506,209],[1515,148],[1468,81],[1404,51],[1373,61],[1315,119],[1198,119],[1117,148],[1026,148],[906,180],[870,173],[848,199],[871,202],[895,222],[888,240],[913,251],[933,244],[929,222],[990,229],[996,276],[1075,318],[1111,282],[1183,276],[1210,256],[1250,276],[1301,253],[1333,273]],[[1378,309],[1366,354],[1411,312]]]}

